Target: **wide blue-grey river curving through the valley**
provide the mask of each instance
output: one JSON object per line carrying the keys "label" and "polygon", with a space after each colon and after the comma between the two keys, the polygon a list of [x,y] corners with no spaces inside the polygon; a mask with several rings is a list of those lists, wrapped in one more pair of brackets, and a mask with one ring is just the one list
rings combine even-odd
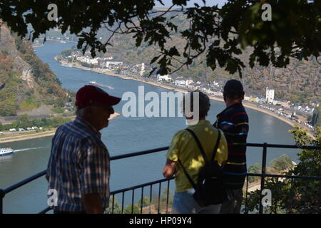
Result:
{"label": "wide blue-grey river curving through the valley", "polygon": [[[51,70],[61,81],[63,88],[76,91],[81,86],[88,84],[89,81],[96,81],[112,86],[115,89],[108,90],[108,93],[120,97],[127,91],[138,94],[138,86],[144,86],[145,93],[155,91],[161,95],[161,92],[169,91],[147,83],[64,67],[54,60],[54,56],[73,45],[47,41],[44,46],[35,48],[36,54],[42,61],[49,64]],[[124,103],[126,101],[122,100],[116,106],[116,112],[121,113]],[[212,100],[208,120],[213,123],[216,115],[224,108],[224,103]],[[287,132],[292,128],[290,125],[256,110],[247,109],[247,112],[250,119],[248,142],[294,144],[290,133]],[[113,156],[167,146],[175,132],[185,126],[183,118],[125,118],[119,116],[115,120],[111,120],[108,128],[101,130],[101,133],[103,142]],[[0,157],[0,189],[45,170],[50,155],[51,139],[52,137],[47,137],[0,144],[0,147],[12,147],[16,150],[12,155]],[[282,154],[287,154],[292,160],[297,161],[297,152],[297,150],[289,149],[268,149],[267,162]],[[248,148],[247,159],[248,167],[256,162],[261,162],[262,148]],[[164,162],[165,151],[111,162],[111,190],[161,179]],[[172,192],[173,187],[174,183],[171,182],[170,190]],[[157,189],[157,187],[154,188]],[[4,213],[40,212],[47,206],[46,190],[46,180],[41,177],[39,180],[10,192],[4,198]],[[149,190],[145,192],[148,196]],[[117,197],[121,199],[120,195]],[[135,200],[138,197],[140,197],[139,192],[137,192]],[[126,194],[125,203],[127,204],[130,199],[131,192]]]}

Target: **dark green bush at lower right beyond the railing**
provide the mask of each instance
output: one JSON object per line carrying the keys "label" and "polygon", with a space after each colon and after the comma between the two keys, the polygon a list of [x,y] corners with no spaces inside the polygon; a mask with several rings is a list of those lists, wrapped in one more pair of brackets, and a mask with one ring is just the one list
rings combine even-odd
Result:
{"label": "dark green bush at lower right beyond the railing", "polygon": [[[316,138],[307,135],[305,130],[296,127],[292,136],[297,145],[321,145],[321,128],[317,128]],[[300,162],[285,175],[321,177],[320,150],[301,150],[297,154]],[[321,212],[321,182],[306,179],[266,178],[265,188],[272,192],[272,206],[266,207],[269,213],[317,213]],[[248,195],[249,211],[257,211],[260,202],[260,191]]]}

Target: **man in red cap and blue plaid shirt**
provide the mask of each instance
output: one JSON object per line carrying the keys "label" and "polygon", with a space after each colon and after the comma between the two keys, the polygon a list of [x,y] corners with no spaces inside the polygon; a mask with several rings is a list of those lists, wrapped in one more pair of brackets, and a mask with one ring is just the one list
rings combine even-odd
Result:
{"label": "man in red cap and blue plaid shirt", "polygon": [[103,213],[108,207],[109,154],[99,130],[120,100],[96,86],[78,90],[76,119],[61,125],[52,140],[46,178],[56,192],[54,213]]}

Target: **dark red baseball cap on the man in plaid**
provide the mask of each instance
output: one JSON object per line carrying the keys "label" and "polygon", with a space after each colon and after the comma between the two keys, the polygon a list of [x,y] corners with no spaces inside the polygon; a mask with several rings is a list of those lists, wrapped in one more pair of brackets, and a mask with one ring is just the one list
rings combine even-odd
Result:
{"label": "dark red baseball cap on the man in plaid", "polygon": [[96,86],[83,86],[76,93],[76,106],[78,109],[86,108],[93,103],[112,106],[117,105],[120,101],[121,98],[113,97]]}

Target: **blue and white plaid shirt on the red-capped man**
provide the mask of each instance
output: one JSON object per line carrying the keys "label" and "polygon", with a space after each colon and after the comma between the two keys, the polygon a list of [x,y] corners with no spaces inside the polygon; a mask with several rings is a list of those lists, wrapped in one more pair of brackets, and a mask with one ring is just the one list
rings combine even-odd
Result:
{"label": "blue and white plaid shirt on the red-capped man", "polygon": [[109,175],[108,150],[93,126],[76,118],[56,130],[46,173],[49,190],[58,193],[54,209],[84,211],[81,195],[87,193],[99,193],[108,207]]}

